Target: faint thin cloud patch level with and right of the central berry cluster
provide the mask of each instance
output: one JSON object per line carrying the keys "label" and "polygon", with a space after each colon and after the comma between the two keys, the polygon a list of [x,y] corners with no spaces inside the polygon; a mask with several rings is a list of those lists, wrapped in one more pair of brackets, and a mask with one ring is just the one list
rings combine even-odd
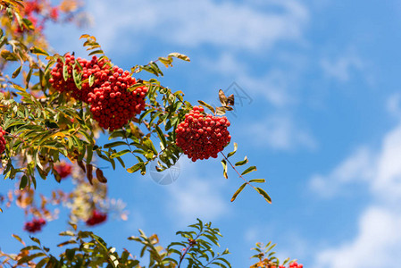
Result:
{"label": "faint thin cloud patch level with and right of the central berry cluster", "polygon": [[312,135],[297,126],[288,115],[273,115],[265,121],[251,123],[246,128],[247,133],[255,138],[259,146],[263,144],[277,150],[317,147],[317,142]]}

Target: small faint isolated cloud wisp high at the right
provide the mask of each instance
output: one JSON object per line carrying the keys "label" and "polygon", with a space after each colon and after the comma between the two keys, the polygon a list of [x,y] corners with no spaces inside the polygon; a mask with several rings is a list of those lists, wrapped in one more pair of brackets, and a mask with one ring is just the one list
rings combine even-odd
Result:
{"label": "small faint isolated cloud wisp high at the right", "polygon": [[321,65],[328,77],[341,82],[350,79],[351,71],[363,69],[363,62],[355,55],[344,55],[334,60],[322,59]]}

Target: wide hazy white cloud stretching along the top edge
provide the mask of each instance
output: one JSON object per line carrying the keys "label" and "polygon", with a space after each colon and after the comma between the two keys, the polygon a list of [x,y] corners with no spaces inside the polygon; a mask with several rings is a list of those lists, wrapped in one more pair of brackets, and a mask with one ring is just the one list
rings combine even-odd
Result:
{"label": "wide hazy white cloud stretching along the top edge", "polygon": [[280,40],[301,38],[309,17],[302,4],[293,0],[265,3],[279,7],[281,12],[262,12],[250,4],[213,0],[126,0],[115,5],[90,1],[88,9],[95,14],[96,35],[110,42],[109,49],[121,46],[121,40],[126,39],[123,37],[132,34],[182,46],[210,44],[256,50]]}

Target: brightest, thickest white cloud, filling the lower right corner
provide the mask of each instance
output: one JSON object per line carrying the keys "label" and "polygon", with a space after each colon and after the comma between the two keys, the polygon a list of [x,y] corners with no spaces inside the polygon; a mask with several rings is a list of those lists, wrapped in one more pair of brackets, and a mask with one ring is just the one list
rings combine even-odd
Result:
{"label": "brightest, thickest white cloud, filling the lower right corner", "polygon": [[398,267],[401,257],[401,123],[389,131],[379,150],[358,149],[327,176],[316,175],[311,186],[335,195],[350,183],[367,184],[372,195],[360,216],[355,238],[316,253],[315,267]]}

